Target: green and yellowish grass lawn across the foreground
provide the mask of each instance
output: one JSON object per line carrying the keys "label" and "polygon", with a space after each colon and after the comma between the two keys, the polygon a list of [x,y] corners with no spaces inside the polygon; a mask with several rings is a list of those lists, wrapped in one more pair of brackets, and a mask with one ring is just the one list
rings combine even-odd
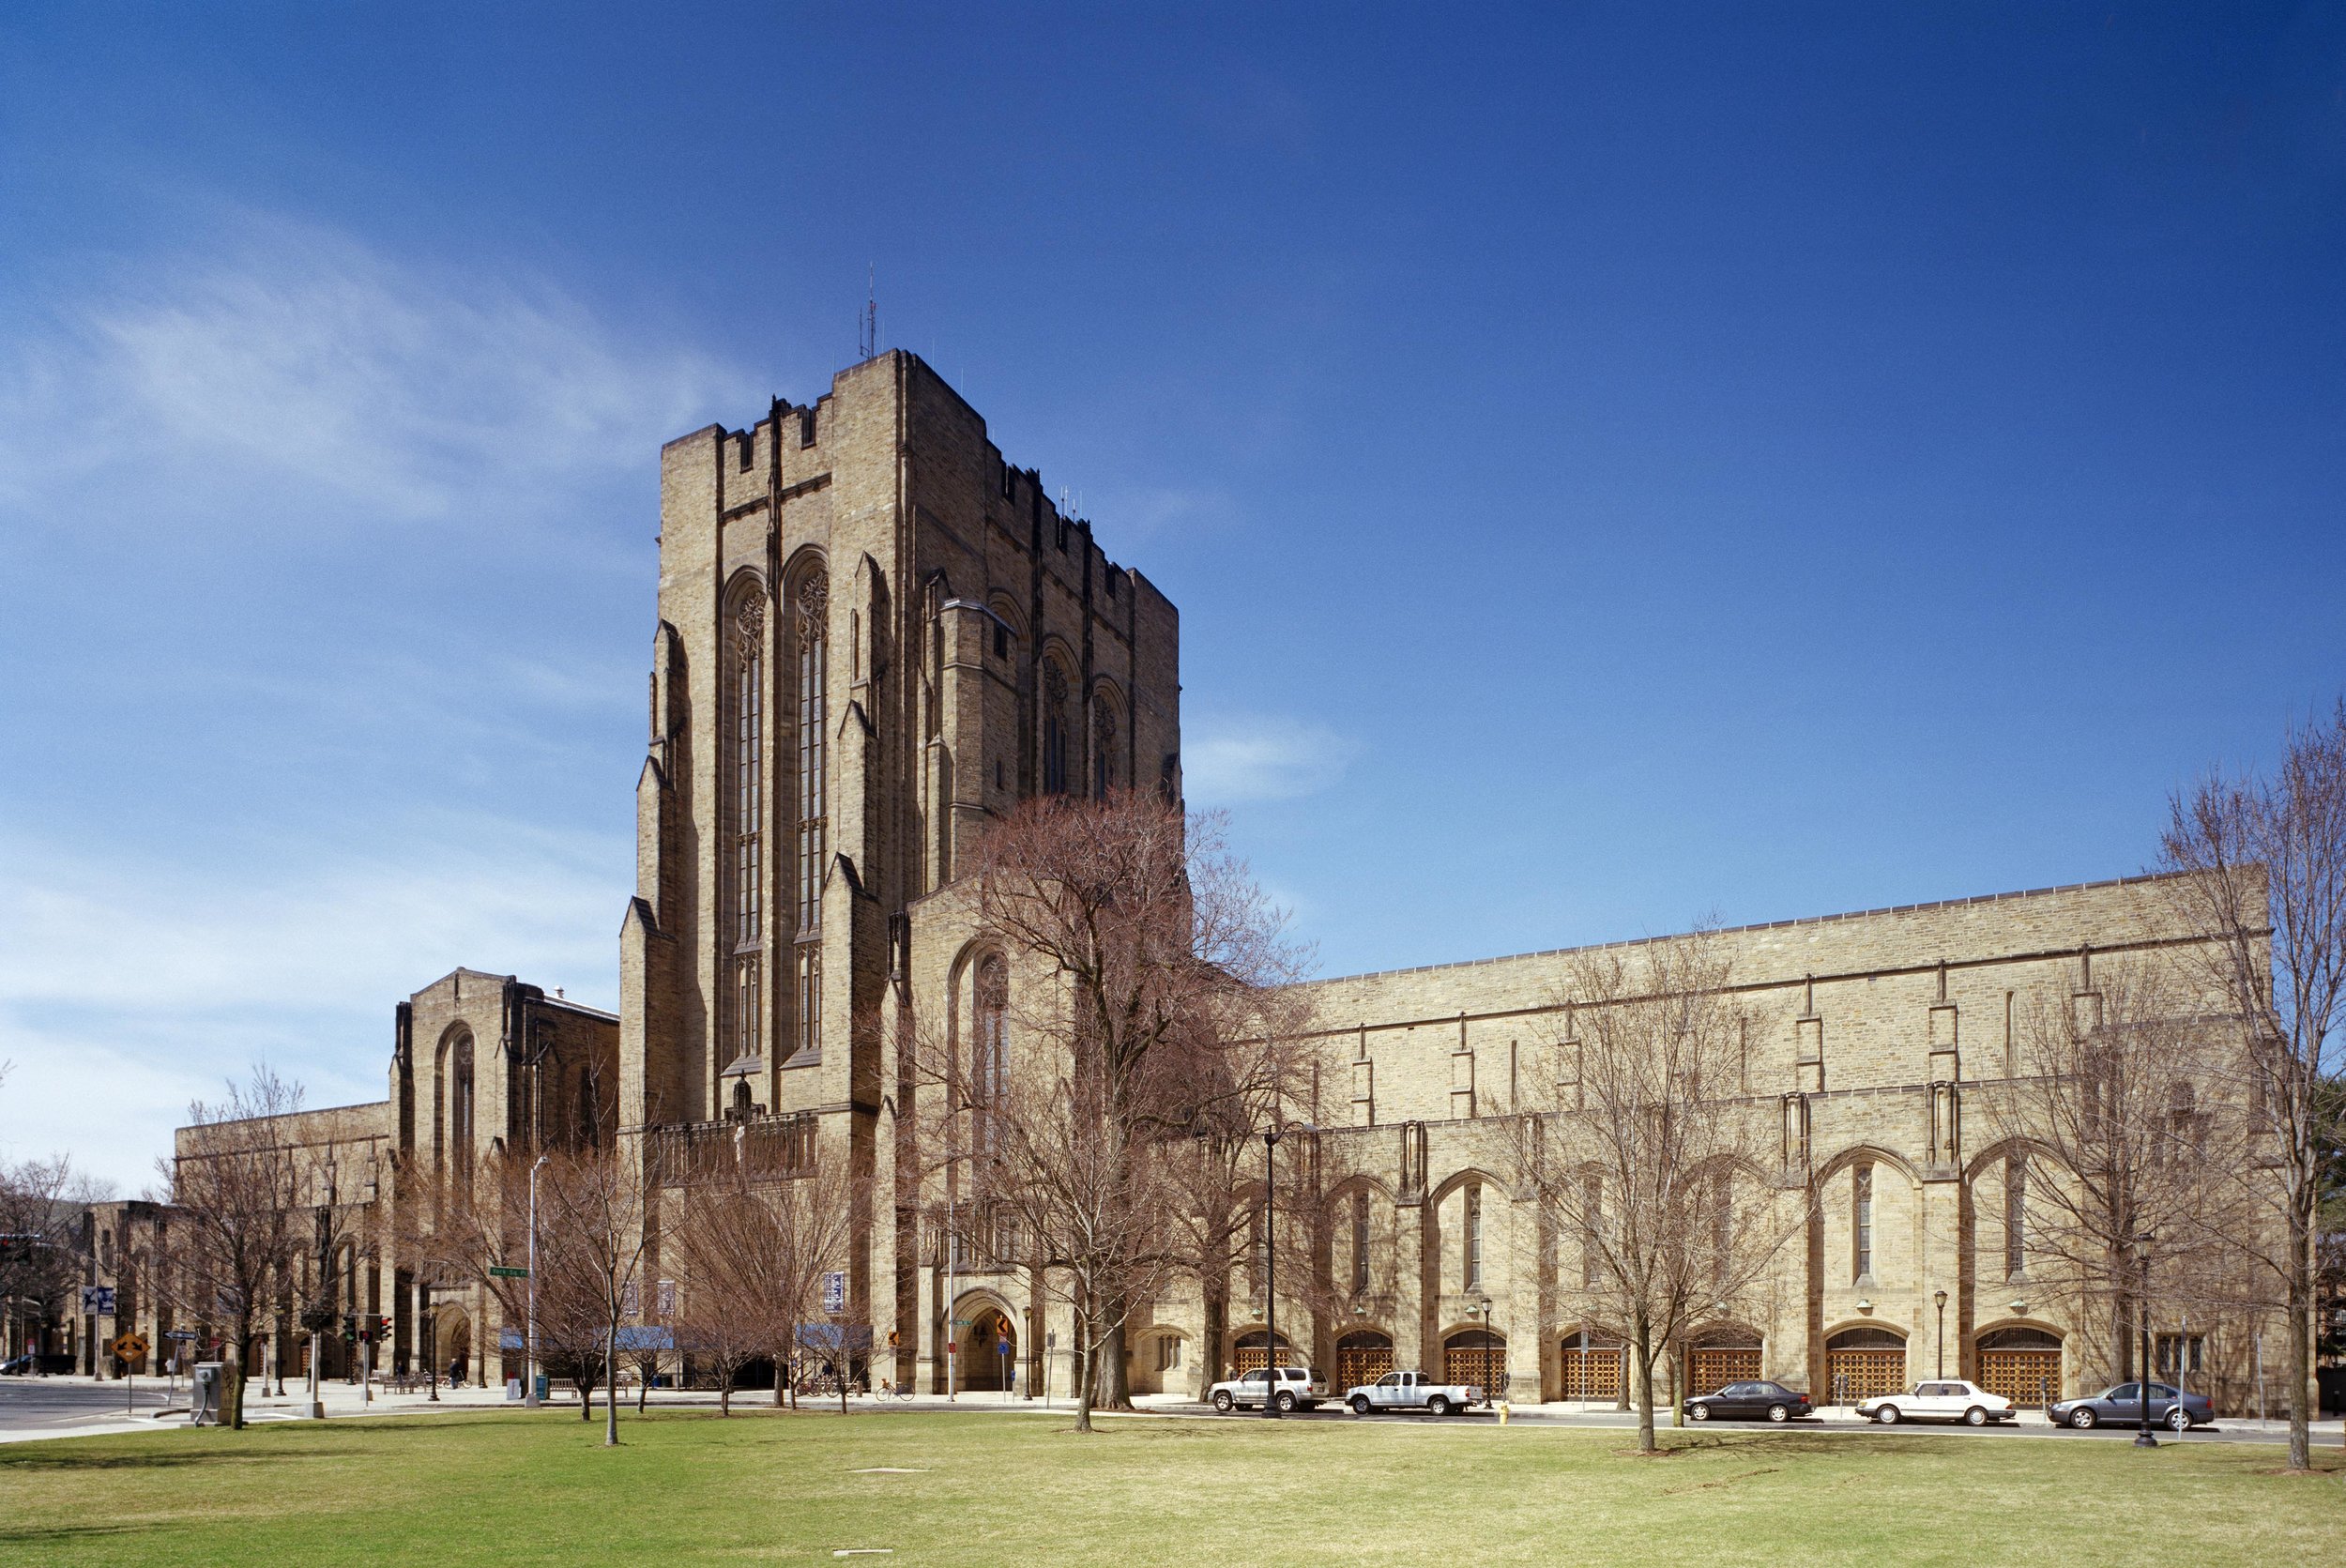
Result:
{"label": "green and yellowish grass lawn across the foreground", "polygon": [[[556,1413],[0,1448],[0,1563],[2325,1561],[2346,1474],[2280,1451],[1492,1422]],[[894,1465],[922,1474],[854,1474]]]}

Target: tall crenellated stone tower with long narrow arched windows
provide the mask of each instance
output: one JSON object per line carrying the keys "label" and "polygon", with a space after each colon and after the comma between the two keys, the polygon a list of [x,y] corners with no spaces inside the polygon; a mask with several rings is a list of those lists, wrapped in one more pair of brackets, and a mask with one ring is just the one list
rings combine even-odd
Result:
{"label": "tall crenellated stone tower with long narrow arched windows", "polygon": [[873,1174],[847,1319],[882,1343],[910,1195],[882,1155],[896,1063],[856,1021],[922,1007],[913,934],[941,932],[913,911],[990,817],[1178,793],[1178,648],[1164,594],[913,354],[662,448],[622,1134],[655,1160],[762,1141]]}

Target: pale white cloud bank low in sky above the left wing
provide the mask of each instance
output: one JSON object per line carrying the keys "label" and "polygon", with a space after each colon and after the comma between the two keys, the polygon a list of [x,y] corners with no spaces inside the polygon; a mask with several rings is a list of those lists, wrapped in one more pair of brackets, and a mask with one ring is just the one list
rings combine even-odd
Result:
{"label": "pale white cloud bank low in sky above the left wing", "polygon": [[192,1096],[267,1059],[380,1099],[392,1002],[455,965],[615,1005],[624,847],[439,817],[373,852],[150,866],[0,838],[0,1157],[145,1185]]}

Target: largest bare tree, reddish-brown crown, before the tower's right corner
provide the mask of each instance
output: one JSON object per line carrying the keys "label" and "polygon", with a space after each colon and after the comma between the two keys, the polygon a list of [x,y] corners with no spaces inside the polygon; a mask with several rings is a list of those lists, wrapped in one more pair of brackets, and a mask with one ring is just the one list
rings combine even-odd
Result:
{"label": "largest bare tree, reddish-brown crown, before the tower's right corner", "polygon": [[1096,1401],[1128,1401],[1133,1310],[1185,1268],[1192,1134],[1276,1099],[1241,1042],[1300,953],[1220,833],[1147,793],[1039,798],[995,824],[971,885],[1023,976],[1002,1002],[1016,1030],[924,1049],[927,1141],[948,1190],[967,1174],[978,1216],[1009,1221],[1070,1307],[1086,1432]]}

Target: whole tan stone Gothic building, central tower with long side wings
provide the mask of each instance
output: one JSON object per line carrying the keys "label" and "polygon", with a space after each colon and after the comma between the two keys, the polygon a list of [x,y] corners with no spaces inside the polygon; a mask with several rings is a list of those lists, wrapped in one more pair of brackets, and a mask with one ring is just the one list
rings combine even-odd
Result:
{"label": "whole tan stone Gothic building, central tower with long side wings", "polygon": [[[976,1244],[948,1258],[948,1192],[915,1190],[899,1117],[913,1084],[880,1047],[894,1030],[849,1023],[908,1012],[971,1049],[1002,1007],[1009,967],[955,892],[999,810],[1124,786],[1178,798],[1178,613],[906,352],[842,371],[809,406],[777,399],[746,430],[678,437],[659,509],[619,1014],[455,969],[396,1005],[385,1101],[286,1117],[335,1171],[312,1202],[359,1207],[335,1263],[345,1300],[394,1319],[394,1366],[434,1354],[521,1376],[483,1291],[427,1293],[392,1256],[411,1171],[589,1131],[640,1148],[655,1174],[746,1160],[788,1181],[809,1160],[849,1162],[868,1207],[847,1322],[875,1336],[873,1376],[1063,1397],[1070,1324],[1013,1263]],[[2095,960],[2186,941],[2156,887],[1950,899],[1724,941],[1752,1014],[1738,1091],[1781,1122],[1769,1176],[1813,1181],[1816,1204],[1806,1244],[1701,1326],[1684,1376],[1858,1397],[1945,1366],[2025,1401],[2100,1378],[2100,1324],[2032,1253],[2011,1190],[2020,1150],[1978,1129],[2020,1070],[2027,998],[2090,998]],[[1494,1136],[1541,1103],[1527,1075],[1534,1042],[1555,1038],[1562,969],[1527,953],[1309,986],[1321,1063],[1300,1113],[1318,1127],[1328,1277],[1281,1303],[1293,1354],[1340,1383],[1424,1366],[1516,1401],[1623,1394],[1619,1324],[1586,1307],[1577,1246],[1539,1239]],[[108,1237],[157,1223],[115,1209],[91,1221]],[[1260,1364],[1260,1293],[1241,1277],[1232,1296],[1215,1345],[1199,1343],[1194,1296],[1154,1303],[1128,1333],[1131,1387],[1196,1392]],[[122,1314],[155,1326],[136,1303]],[[89,1322],[87,1338],[110,1329]],[[2266,1329],[2194,1324],[2196,1387],[2252,1401]],[[298,1336],[277,1354],[293,1366]]]}

